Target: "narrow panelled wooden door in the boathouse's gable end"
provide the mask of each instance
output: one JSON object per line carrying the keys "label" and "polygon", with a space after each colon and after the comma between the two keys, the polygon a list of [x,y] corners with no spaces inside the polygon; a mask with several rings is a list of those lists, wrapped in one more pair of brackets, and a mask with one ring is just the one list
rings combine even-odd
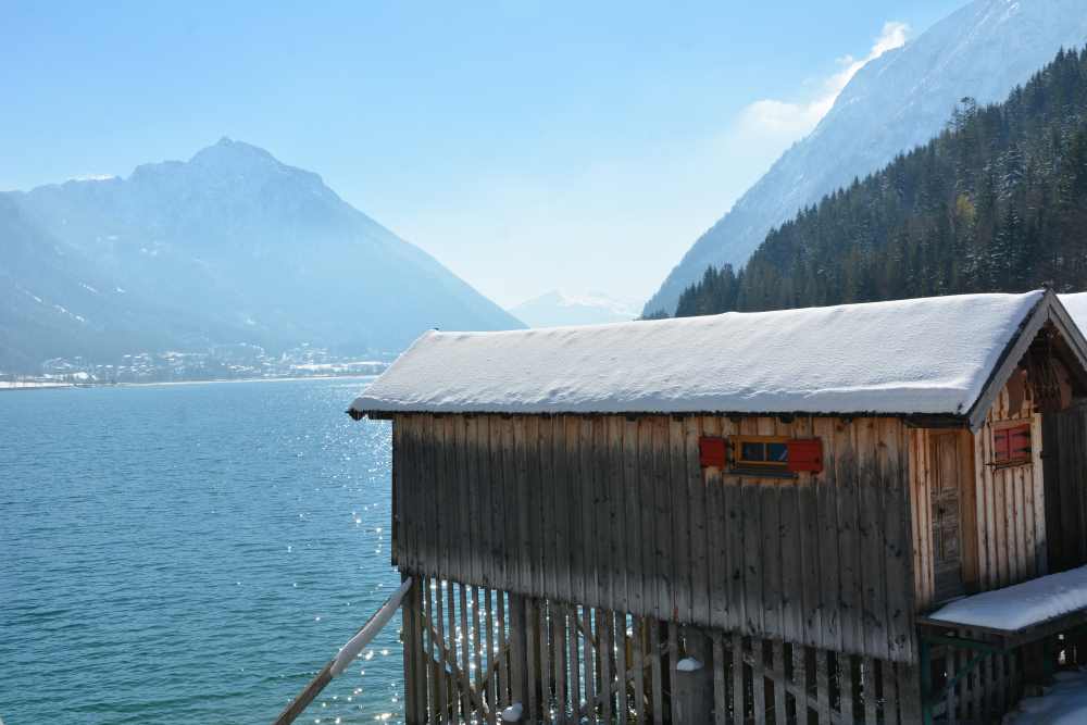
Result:
{"label": "narrow panelled wooden door in the boathouse's gable end", "polygon": [[935,602],[966,592],[963,576],[962,447],[958,432],[929,437]]}

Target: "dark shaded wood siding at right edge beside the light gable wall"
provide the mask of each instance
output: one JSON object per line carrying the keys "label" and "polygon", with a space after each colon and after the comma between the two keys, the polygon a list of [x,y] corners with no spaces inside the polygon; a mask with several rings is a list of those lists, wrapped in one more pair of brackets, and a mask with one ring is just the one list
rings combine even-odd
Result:
{"label": "dark shaded wood siding at right edge beside the light gable wall", "polygon": [[1049,568],[1087,564],[1087,404],[1042,415]]}

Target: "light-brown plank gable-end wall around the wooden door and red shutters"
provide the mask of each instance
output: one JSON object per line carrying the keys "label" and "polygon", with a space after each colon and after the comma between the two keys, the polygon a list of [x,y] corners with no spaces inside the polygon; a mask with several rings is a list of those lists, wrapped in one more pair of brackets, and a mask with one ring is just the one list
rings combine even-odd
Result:
{"label": "light-brown plank gable-end wall around the wooden door and red shutters", "polygon": [[[1047,573],[1045,482],[1041,463],[1041,415],[1033,413],[1033,400],[1022,397],[1011,410],[1008,389],[1000,391],[985,425],[967,436],[972,448],[970,467],[973,486],[964,486],[962,550],[966,578],[977,590],[998,589]],[[991,465],[992,428],[1005,421],[1032,425],[1030,463],[997,468]],[[929,484],[933,462],[928,441],[940,430],[910,432],[911,505],[914,523],[914,586],[917,611],[934,604],[933,542]],[[964,474],[965,476],[965,474]]]}

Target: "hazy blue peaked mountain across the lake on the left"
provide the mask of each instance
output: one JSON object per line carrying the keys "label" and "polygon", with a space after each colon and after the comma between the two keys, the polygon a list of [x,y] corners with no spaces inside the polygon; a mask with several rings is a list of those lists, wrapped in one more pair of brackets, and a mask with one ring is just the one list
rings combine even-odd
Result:
{"label": "hazy blue peaked mountain across the lake on the left", "polygon": [[433,327],[523,327],[316,174],[225,138],[0,193],[0,370],[232,342],[391,354]]}

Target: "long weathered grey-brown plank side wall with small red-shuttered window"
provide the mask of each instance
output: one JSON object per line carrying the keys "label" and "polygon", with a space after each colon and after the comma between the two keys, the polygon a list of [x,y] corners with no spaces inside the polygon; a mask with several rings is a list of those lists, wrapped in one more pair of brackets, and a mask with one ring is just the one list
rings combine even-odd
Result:
{"label": "long weathered grey-brown plank side wall with small red-shuttered window", "polygon": [[[395,555],[427,576],[912,662],[895,418],[398,415]],[[699,436],[819,437],[825,471],[701,468]]]}

